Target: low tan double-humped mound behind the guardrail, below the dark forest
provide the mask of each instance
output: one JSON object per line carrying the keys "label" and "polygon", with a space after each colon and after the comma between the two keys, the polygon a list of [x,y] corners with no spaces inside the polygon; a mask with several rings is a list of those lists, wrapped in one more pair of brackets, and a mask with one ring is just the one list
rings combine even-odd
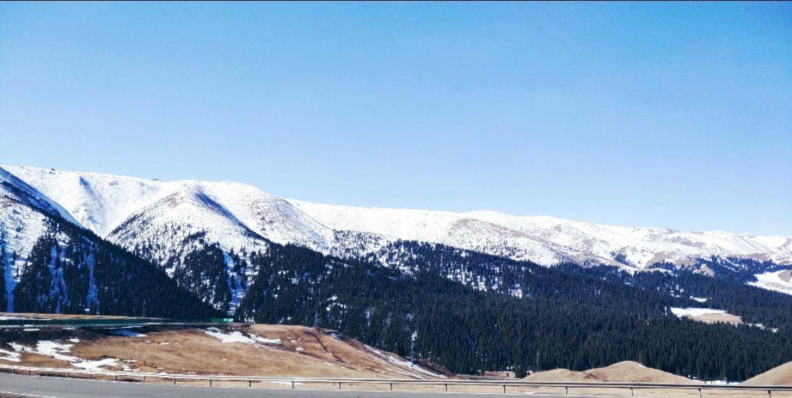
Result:
{"label": "low tan double-humped mound behind the guardrail, below the dark forest", "polygon": [[695,381],[662,370],[647,368],[638,362],[619,362],[604,368],[575,372],[556,369],[525,377],[526,381],[611,381],[693,384]]}

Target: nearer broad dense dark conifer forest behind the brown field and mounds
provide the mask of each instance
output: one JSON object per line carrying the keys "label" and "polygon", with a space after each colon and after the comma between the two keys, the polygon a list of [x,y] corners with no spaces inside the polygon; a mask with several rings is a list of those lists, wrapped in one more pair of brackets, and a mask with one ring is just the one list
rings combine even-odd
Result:
{"label": "nearer broad dense dark conifer forest behind the brown field and mounds", "polygon": [[272,244],[251,266],[257,275],[238,320],[334,328],[459,373],[513,369],[524,375],[634,360],[692,377],[744,380],[792,360],[787,332],[679,320],[652,304],[622,311],[549,294],[515,298],[437,272],[404,273],[291,245]]}

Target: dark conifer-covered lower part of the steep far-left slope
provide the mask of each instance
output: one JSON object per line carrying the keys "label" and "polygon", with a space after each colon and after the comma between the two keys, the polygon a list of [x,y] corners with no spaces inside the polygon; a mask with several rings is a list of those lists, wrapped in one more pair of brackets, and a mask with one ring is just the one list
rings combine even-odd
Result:
{"label": "dark conifer-covered lower part of the steep far-left slope", "polygon": [[[18,282],[0,306],[13,300],[16,312],[86,313],[143,317],[208,318],[218,313],[169,279],[158,267],[85,229],[49,219],[25,263],[0,236],[0,280],[13,273]],[[10,277],[12,275],[9,275]],[[14,278],[10,278],[14,279]],[[10,294],[9,294],[10,293]]]}

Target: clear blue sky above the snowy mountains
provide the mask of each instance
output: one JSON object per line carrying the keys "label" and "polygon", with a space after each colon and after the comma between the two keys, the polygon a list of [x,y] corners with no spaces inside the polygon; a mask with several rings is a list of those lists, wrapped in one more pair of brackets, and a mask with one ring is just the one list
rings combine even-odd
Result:
{"label": "clear blue sky above the snowy mountains", "polygon": [[4,2],[0,164],[792,235],[792,3]]}

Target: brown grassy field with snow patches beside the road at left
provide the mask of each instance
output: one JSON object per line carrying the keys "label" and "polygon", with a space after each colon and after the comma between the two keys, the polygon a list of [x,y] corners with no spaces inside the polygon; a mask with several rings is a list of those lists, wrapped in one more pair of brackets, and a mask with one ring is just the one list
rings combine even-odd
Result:
{"label": "brown grassy field with snow patches beside the road at left", "polygon": [[[47,351],[48,342],[62,352]],[[145,373],[355,378],[447,373],[431,364],[425,367],[434,370],[421,371],[425,367],[326,329],[285,325],[6,328],[0,350],[21,354],[14,362],[0,353],[0,363],[77,369],[104,360],[109,362],[101,369]]]}

